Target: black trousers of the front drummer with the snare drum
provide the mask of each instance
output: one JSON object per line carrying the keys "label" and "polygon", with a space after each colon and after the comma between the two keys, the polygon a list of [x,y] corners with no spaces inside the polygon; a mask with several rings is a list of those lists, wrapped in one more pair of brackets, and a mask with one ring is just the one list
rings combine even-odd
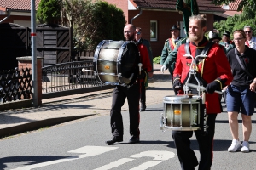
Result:
{"label": "black trousers of the front drummer with the snare drum", "polygon": [[[201,130],[194,131],[200,151],[199,170],[209,170],[213,158],[213,137],[215,133],[215,120],[217,114],[208,114],[207,134],[202,135]],[[194,150],[190,148],[193,131],[172,131],[172,138],[176,145],[177,157],[183,170],[194,170],[198,165]]]}

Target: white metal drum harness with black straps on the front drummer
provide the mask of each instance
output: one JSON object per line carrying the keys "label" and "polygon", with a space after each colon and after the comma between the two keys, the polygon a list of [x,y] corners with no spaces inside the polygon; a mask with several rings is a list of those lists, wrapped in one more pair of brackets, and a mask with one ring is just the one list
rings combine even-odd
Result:
{"label": "white metal drum harness with black straps on the front drummer", "polygon": [[[202,79],[202,74],[200,75],[198,73],[198,71],[196,71],[196,60],[199,58],[207,58],[207,53],[209,51],[209,49],[212,47],[212,45],[214,44],[214,42],[208,42],[207,45],[205,46],[205,48],[203,48],[201,54],[195,56],[195,59],[193,58],[193,56],[190,53],[190,49],[189,49],[189,42],[187,42],[184,46],[185,48],[185,52],[186,54],[184,54],[184,57],[190,57],[192,59],[190,68],[189,68],[189,77],[187,77],[187,80],[185,82],[184,85],[184,92],[185,94],[187,94],[189,96],[189,98],[192,97],[193,94],[189,94],[189,80],[190,78],[193,78],[192,76],[195,77],[195,80],[197,82],[197,91],[198,91],[198,95],[201,96],[200,98],[200,111],[201,111],[201,116],[200,116],[200,127],[201,127],[201,135],[206,135],[207,133],[207,111],[206,111],[206,92],[204,90],[201,90],[201,80]],[[202,123],[203,122],[203,123]]]}

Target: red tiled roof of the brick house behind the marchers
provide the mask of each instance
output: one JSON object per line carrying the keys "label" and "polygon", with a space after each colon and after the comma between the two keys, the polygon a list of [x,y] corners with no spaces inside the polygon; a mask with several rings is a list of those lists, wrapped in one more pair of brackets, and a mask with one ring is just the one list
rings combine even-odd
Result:
{"label": "red tiled roof of the brick house behind the marchers", "polygon": [[[141,8],[176,9],[177,0],[131,0]],[[224,9],[211,3],[212,0],[197,0],[200,12],[224,13]]]}

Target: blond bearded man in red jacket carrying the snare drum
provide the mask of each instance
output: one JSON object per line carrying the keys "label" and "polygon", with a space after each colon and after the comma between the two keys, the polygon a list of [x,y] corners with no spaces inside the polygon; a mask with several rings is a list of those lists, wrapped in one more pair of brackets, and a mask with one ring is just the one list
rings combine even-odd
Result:
{"label": "blond bearded man in red jacket carrying the snare drum", "polygon": [[184,57],[186,54],[185,47],[189,48],[190,54],[194,57],[201,54],[205,47],[207,50],[207,58],[198,59],[196,62],[196,71],[198,71],[203,79],[207,82],[206,87],[206,111],[207,111],[207,132],[201,133],[196,130],[195,137],[199,144],[201,154],[198,162],[194,150],[190,148],[190,140],[193,131],[176,131],[172,130],[172,138],[177,148],[177,156],[181,167],[184,170],[195,169],[199,164],[199,170],[209,170],[212,166],[212,147],[215,131],[215,119],[218,113],[222,111],[218,94],[215,90],[221,90],[232,80],[231,69],[228,60],[225,57],[224,50],[218,44],[211,43],[204,37],[207,31],[207,19],[205,15],[194,15],[189,18],[189,42],[181,45],[177,52],[177,61],[173,72],[173,87],[177,88],[178,95],[184,94],[183,84],[188,75],[192,59]]}

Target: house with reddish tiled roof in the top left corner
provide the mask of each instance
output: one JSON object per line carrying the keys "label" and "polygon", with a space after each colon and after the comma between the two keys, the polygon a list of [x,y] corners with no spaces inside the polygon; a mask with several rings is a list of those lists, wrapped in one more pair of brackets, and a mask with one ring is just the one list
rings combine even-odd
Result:
{"label": "house with reddish tiled roof in the top left corner", "polygon": [[[38,8],[40,0],[35,0]],[[10,22],[31,27],[31,0],[0,0],[0,23]]]}

